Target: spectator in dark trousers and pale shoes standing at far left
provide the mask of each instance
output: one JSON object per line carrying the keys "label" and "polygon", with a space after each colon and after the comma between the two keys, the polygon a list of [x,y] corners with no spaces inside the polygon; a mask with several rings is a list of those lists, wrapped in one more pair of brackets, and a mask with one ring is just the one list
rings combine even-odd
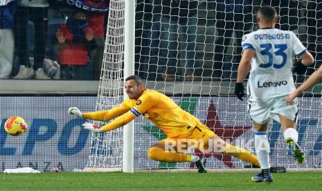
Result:
{"label": "spectator in dark trousers and pale shoes standing at far left", "polygon": [[[19,57],[19,72],[13,77],[15,79],[48,80],[44,73],[44,57],[46,50],[46,37],[48,28],[48,7],[47,0],[17,0],[18,8],[15,23],[16,51]],[[30,66],[27,44],[28,19],[34,24],[35,48],[33,51],[34,64]]]}

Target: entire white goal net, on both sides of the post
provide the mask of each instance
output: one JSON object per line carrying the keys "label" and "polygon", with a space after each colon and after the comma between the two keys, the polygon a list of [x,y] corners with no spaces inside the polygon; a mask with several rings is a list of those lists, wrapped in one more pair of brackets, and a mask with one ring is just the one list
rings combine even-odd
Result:
{"label": "entire white goal net, on both sides of the post", "polygon": [[[218,136],[233,145],[254,151],[253,127],[246,114],[247,98],[233,95],[242,35],[256,30],[256,12],[271,5],[280,19],[276,28],[293,30],[316,59],[300,84],[322,61],[322,3],[319,1],[202,1],[136,0],[135,73],[147,88],[166,93],[184,110],[197,116]],[[123,100],[124,0],[111,0],[107,39],[97,109],[110,109]],[[295,60],[294,60],[295,62]],[[126,66],[125,66],[126,67]],[[300,98],[298,143],[306,163],[298,165],[289,153],[280,125],[269,127],[271,165],[289,168],[321,168],[321,86]],[[163,163],[147,157],[147,149],[166,138],[150,121],[134,122],[134,170],[189,169],[193,163]],[[118,170],[122,167],[122,129],[92,134],[87,167]],[[188,154],[202,154],[190,149]],[[222,154],[205,154],[206,167],[243,168],[249,165]]]}

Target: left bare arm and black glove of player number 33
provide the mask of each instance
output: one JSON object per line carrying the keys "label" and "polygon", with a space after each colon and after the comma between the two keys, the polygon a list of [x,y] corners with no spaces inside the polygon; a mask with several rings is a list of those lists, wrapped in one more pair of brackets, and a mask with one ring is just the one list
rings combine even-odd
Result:
{"label": "left bare arm and black glove of player number 33", "polygon": [[242,52],[242,59],[240,60],[240,64],[238,66],[237,80],[235,84],[235,95],[238,99],[242,100],[244,95],[244,85],[242,82],[246,77],[249,69],[251,67],[251,58],[255,55],[255,50],[250,46],[249,48],[245,48]]}

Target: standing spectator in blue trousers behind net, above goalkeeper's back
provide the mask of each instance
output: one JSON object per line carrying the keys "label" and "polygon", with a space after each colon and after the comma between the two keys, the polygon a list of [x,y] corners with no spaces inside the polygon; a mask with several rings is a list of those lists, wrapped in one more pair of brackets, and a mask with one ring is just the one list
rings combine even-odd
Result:
{"label": "standing spectator in blue trousers behind net, above goalkeeper's back", "polygon": [[[176,80],[179,66],[178,41],[180,34],[186,36],[187,60],[186,80],[199,80],[195,76],[195,48],[197,31],[197,6],[195,0],[150,0],[154,5],[153,14],[158,17],[160,31],[152,31],[155,39],[160,34],[158,68],[163,73],[164,80]],[[153,45],[154,46],[154,45]]]}

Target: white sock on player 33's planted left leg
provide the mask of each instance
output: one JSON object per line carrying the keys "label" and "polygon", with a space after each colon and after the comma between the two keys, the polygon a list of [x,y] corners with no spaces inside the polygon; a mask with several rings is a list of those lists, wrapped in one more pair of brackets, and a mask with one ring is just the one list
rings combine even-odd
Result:
{"label": "white sock on player 33's planted left leg", "polygon": [[255,131],[255,149],[261,169],[269,169],[269,142],[266,132]]}

